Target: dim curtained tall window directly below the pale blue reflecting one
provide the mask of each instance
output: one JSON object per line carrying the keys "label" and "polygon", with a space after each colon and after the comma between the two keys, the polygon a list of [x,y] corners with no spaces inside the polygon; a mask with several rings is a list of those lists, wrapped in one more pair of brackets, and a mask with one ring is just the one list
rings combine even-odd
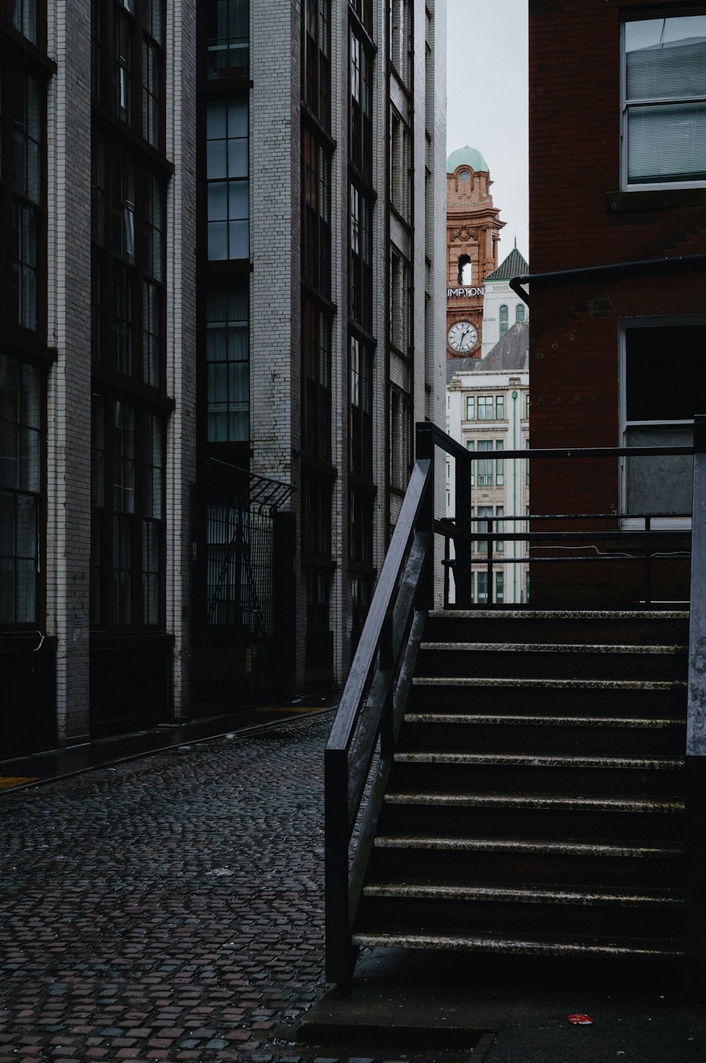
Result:
{"label": "dim curtained tall window directly below the pale blue reflecting one", "polygon": [[250,438],[248,288],[245,284],[206,296],[206,439]]}

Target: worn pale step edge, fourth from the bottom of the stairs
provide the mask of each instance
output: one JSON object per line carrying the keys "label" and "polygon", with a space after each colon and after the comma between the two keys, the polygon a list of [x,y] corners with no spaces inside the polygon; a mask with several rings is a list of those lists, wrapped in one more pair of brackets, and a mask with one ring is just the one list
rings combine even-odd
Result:
{"label": "worn pale step edge, fourth from the bottom of the stairs", "polygon": [[443,793],[386,793],[388,805],[441,806],[466,808],[522,808],[558,809],[582,812],[668,812],[683,814],[683,799],[626,798],[626,797],[555,797],[539,794],[443,794]]}

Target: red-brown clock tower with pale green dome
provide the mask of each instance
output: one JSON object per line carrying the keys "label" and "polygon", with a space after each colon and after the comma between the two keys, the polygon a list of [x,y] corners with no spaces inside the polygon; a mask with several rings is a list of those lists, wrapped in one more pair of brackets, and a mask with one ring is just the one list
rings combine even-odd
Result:
{"label": "red-brown clock tower with pale green dome", "polygon": [[505,222],[492,205],[488,164],[475,148],[447,159],[447,357],[480,358],[483,281],[498,266]]}

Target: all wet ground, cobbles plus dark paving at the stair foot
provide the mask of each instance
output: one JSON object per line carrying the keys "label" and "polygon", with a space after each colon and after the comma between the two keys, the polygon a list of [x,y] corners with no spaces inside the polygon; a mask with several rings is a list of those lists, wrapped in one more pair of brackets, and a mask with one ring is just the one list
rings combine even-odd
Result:
{"label": "all wet ground, cobbles plus dark paving at the stair foot", "polygon": [[[242,730],[179,730],[155,749],[116,740],[112,762],[45,759],[39,783],[0,793],[0,1063],[704,1058],[703,1008],[685,1001],[673,974],[638,984],[626,972],[611,989],[587,967],[551,986],[550,967],[477,957],[364,956],[354,984],[417,1013],[424,985],[461,992],[475,1009],[468,1044],[434,1047],[404,1029],[391,1044],[374,1024],[356,1036],[367,1006],[335,1042],[298,1042],[331,990],[322,793],[332,720],[241,719]],[[0,777],[31,777],[36,763],[27,775],[0,764]],[[81,774],[61,777],[71,763]],[[360,1003],[352,998],[353,1010]],[[569,1025],[574,1011],[594,1025]]]}

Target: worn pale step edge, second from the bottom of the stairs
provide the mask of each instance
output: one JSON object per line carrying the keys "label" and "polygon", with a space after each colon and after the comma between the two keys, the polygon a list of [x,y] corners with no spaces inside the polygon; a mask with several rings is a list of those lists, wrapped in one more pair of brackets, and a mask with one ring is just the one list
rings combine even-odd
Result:
{"label": "worn pale step edge, second from the bottom of the stairs", "polygon": [[627,890],[613,893],[595,890],[542,890],[539,887],[504,885],[431,885],[394,882],[375,882],[363,890],[366,897],[384,897],[401,900],[404,898],[423,900],[490,900],[526,905],[578,905],[585,907],[624,908],[683,908],[684,897],[668,891],[661,893],[636,893]]}

